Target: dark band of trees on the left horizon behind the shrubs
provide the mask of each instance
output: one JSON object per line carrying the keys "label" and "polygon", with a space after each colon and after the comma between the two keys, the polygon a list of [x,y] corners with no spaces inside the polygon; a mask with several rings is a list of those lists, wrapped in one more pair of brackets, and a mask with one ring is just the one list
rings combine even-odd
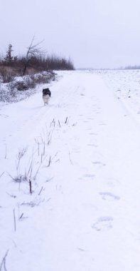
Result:
{"label": "dark band of trees on the left horizon behind the shrubs", "polygon": [[[38,44],[37,44],[38,46]],[[59,56],[41,54],[36,45],[28,47],[26,56],[13,56],[12,45],[6,51],[6,56],[0,58],[0,66],[18,68],[23,70],[23,75],[28,73],[28,70],[34,71],[51,71],[51,70],[73,70],[74,66],[70,58],[61,58]]]}

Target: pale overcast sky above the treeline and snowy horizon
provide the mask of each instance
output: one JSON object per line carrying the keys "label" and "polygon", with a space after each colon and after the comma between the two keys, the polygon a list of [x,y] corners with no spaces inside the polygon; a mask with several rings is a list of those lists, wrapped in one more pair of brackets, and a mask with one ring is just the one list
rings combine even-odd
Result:
{"label": "pale overcast sky above the treeline and snowy horizon", "polygon": [[0,53],[26,53],[35,36],[75,68],[140,65],[139,0],[0,0],[0,11]]}

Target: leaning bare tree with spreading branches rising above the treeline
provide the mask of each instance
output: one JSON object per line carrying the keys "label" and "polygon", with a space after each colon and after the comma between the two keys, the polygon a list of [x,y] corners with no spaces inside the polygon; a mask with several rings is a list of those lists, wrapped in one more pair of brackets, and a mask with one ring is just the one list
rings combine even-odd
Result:
{"label": "leaning bare tree with spreading branches rising above the treeline", "polygon": [[41,55],[43,53],[45,53],[41,47],[39,47],[39,45],[43,42],[43,41],[40,41],[38,42],[38,44],[34,44],[34,39],[35,39],[35,36],[33,36],[33,39],[31,41],[31,44],[30,46],[27,47],[28,51],[26,53],[26,63],[25,63],[25,66],[23,68],[23,76],[25,75],[26,73],[26,68],[30,62],[30,59],[32,56],[38,56],[38,55]]}

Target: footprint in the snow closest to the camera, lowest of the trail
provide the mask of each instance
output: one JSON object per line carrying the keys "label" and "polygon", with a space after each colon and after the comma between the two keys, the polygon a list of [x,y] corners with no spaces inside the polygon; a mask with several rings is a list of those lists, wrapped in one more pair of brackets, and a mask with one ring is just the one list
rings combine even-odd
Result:
{"label": "footprint in the snow closest to the camera, lowest of the trail", "polygon": [[92,229],[99,231],[107,231],[112,229],[113,218],[111,216],[102,216],[97,219],[97,222],[92,224]]}

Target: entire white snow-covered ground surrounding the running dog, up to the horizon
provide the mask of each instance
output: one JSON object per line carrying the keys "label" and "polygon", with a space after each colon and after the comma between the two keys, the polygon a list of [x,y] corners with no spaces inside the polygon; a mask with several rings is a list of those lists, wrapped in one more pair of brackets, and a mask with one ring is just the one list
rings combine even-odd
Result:
{"label": "entire white snow-covered ground surrounding the running dog, up to the horizon", "polygon": [[140,270],[139,71],[65,71],[0,110],[0,270]]}

